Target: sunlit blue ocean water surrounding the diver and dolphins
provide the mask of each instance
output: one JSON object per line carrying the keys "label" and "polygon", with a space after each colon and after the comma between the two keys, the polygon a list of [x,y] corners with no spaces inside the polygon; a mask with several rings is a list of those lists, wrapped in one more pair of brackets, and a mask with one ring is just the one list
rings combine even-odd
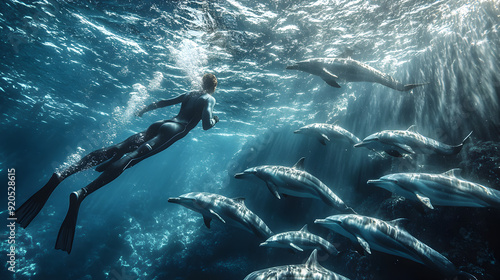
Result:
{"label": "sunlit blue ocean water surrounding the diver and dolphins", "polygon": [[[17,227],[17,272],[2,263],[1,279],[243,279],[309,256],[259,247],[255,236],[220,223],[207,229],[198,213],[167,203],[191,191],[245,197],[275,232],[309,224],[343,251],[320,263],[350,279],[442,279],[412,261],[364,255],[314,225],[335,213],[325,205],[276,200],[263,182],[233,178],[300,157],[357,212],[406,217],[412,235],[461,270],[500,279],[498,209],[423,210],[366,185],[388,173],[460,167],[465,178],[500,189],[499,32],[498,1],[2,1],[0,170],[7,186],[7,170],[16,169],[17,206],[54,171],[173,117],[178,107],[142,118],[134,112],[198,89],[205,72],[219,81],[220,122],[194,129],[86,199],[70,255],[53,249],[68,195],[98,173],[69,177],[29,227]],[[337,89],[285,70],[345,55],[405,83],[429,84],[411,92],[371,83]],[[335,122],[359,138],[411,125],[449,144],[473,135],[457,156],[389,158],[293,134],[315,122]]]}

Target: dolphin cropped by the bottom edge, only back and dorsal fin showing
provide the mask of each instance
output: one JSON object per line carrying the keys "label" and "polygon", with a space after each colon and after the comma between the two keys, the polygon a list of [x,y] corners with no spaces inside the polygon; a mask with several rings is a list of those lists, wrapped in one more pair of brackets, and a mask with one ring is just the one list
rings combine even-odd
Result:
{"label": "dolphin cropped by the bottom edge, only back and dorsal fin showing", "polygon": [[243,280],[349,280],[340,274],[334,273],[318,263],[318,250],[314,250],[305,264],[283,265],[266,268],[250,273]]}

